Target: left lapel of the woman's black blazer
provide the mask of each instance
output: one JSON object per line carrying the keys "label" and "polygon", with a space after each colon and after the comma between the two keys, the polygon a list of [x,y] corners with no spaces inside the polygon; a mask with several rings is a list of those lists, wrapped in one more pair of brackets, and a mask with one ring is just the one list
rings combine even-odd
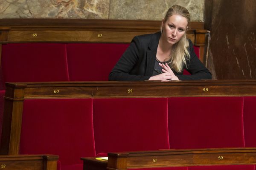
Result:
{"label": "left lapel of the woman's black blazer", "polygon": [[145,76],[152,76],[154,70],[154,63],[157,56],[157,46],[161,37],[161,32],[152,35],[147,50],[147,67]]}

